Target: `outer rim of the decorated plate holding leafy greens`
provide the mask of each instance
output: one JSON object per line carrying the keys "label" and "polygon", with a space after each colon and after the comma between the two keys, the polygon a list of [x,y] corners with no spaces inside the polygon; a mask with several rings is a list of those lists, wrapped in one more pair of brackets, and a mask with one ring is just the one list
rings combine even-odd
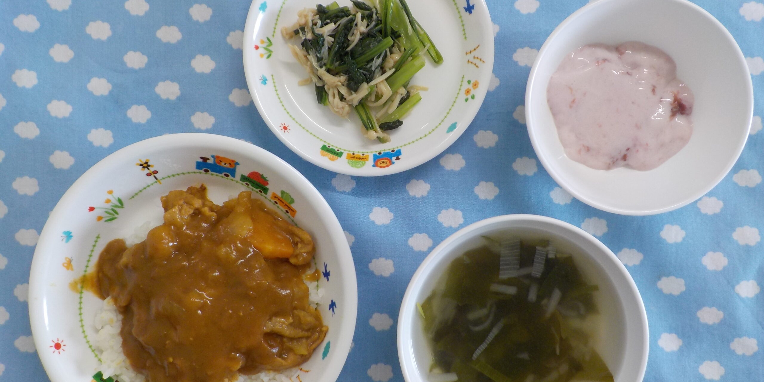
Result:
{"label": "outer rim of the decorated plate holding leafy greens", "polygon": [[[286,3],[289,0],[283,0],[280,5],[283,6],[284,3]],[[434,0],[431,0],[434,1]],[[445,2],[448,2],[448,0],[443,0]],[[251,61],[251,55],[253,53],[248,53],[249,50],[247,47],[254,44],[254,28],[256,24],[259,24],[261,20],[257,17],[260,13],[260,9],[257,6],[258,3],[260,3],[261,0],[252,0],[248,15],[247,15],[247,21],[244,25],[244,42],[241,47],[241,55],[243,57],[243,63],[244,63],[244,77],[247,81],[247,86],[250,92],[250,95],[252,97],[252,101],[254,102],[254,105],[257,107],[257,112],[262,118],[262,120],[265,122],[265,124],[268,126],[271,132],[276,135],[276,137],[283,143],[286,147],[289,147],[291,151],[293,151],[295,154],[299,155],[299,157],[302,157],[303,160],[307,160],[308,162],[315,164],[318,167],[321,167],[325,170],[332,171],[333,173],[342,173],[345,175],[351,175],[351,176],[384,176],[384,175],[391,175],[393,173],[400,173],[406,170],[413,169],[414,167],[419,167],[420,165],[429,162],[433,158],[437,157],[439,154],[442,154],[443,151],[446,151],[448,147],[451,147],[454,142],[461,137],[461,134],[464,134],[464,132],[469,128],[469,126],[472,124],[472,121],[474,121],[475,116],[478,115],[478,112],[480,111],[483,102],[485,101],[485,98],[487,97],[487,86],[485,86],[484,89],[481,89],[481,97],[480,99],[477,99],[476,97],[475,101],[478,101],[476,105],[471,105],[468,108],[468,113],[463,113],[459,116],[459,121],[464,122],[463,127],[457,128],[455,131],[452,131],[448,134],[448,137],[443,139],[442,141],[439,141],[438,144],[434,145],[434,148],[432,150],[426,151],[427,154],[422,155],[421,157],[417,157],[417,160],[411,160],[411,161],[405,161],[401,162],[398,166],[394,167],[387,167],[384,170],[377,169],[377,170],[369,170],[372,167],[367,168],[354,168],[350,166],[342,166],[335,168],[331,165],[333,162],[327,163],[326,160],[320,160],[319,157],[316,157],[316,155],[307,154],[306,152],[300,150],[299,147],[297,147],[296,144],[293,144],[289,139],[286,139],[286,137],[283,136],[283,134],[277,134],[278,128],[277,125],[272,123],[270,121],[270,118],[267,117],[267,112],[265,112],[265,109],[263,105],[261,104],[260,96],[257,93],[257,81],[259,78],[254,73],[251,73],[251,71],[254,70],[254,67],[256,67],[252,61]],[[461,9],[458,8],[458,5],[456,4],[455,0],[452,0],[455,7],[457,8],[457,11],[459,12],[459,18],[462,19],[461,16]],[[493,30],[493,21],[490,20],[490,12],[488,11],[487,4],[485,0],[474,0],[473,5],[476,5],[474,7],[474,13],[477,14],[479,18],[484,18],[484,20],[478,21],[478,24],[481,25],[481,30],[485,36],[485,41],[481,42],[481,46],[484,45],[488,48],[490,52],[490,59],[486,60],[485,68],[481,73],[494,72],[494,58],[495,58],[495,50],[494,50],[494,30]],[[280,11],[279,11],[280,13]],[[277,18],[279,16],[277,15]],[[275,31],[276,28],[274,28]],[[251,69],[250,69],[251,68]],[[465,78],[462,76],[461,81],[464,82]],[[252,92],[252,89],[255,89],[255,92]],[[459,96],[457,95],[456,99],[458,99]],[[287,112],[289,114],[289,112]],[[448,114],[446,115],[446,117]],[[445,118],[444,118],[445,121]],[[442,123],[442,122],[441,122]],[[424,136],[415,139],[414,141],[419,141],[422,138],[426,138],[426,135],[431,134],[434,132],[435,128],[433,128],[433,131],[430,133],[425,134]],[[307,128],[306,128],[307,131]],[[319,138],[319,142],[322,140]],[[413,143],[413,142],[410,142]],[[409,144],[410,144],[409,143]],[[408,145],[408,144],[407,144]],[[400,147],[397,147],[400,148]],[[390,147],[384,147],[384,151],[389,151]]]}

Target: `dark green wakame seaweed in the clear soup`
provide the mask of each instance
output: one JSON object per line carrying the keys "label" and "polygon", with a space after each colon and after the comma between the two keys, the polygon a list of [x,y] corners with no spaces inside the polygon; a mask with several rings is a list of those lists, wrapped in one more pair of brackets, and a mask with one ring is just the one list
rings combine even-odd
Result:
{"label": "dark green wakame seaweed in the clear soup", "polygon": [[[520,270],[500,277],[500,258],[517,248]],[[597,314],[599,288],[549,241],[488,239],[452,261],[439,283],[419,305],[431,372],[459,382],[613,381],[584,325]]]}

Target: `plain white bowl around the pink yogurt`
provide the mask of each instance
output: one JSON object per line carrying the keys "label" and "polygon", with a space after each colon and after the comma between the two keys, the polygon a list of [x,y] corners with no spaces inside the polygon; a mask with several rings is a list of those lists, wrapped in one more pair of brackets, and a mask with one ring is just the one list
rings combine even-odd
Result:
{"label": "plain white bowl around the pink yogurt", "polygon": [[[585,44],[638,40],[669,53],[695,95],[694,133],[655,170],[593,170],[565,156],[546,102],[562,57]],[[562,21],[539,50],[526,89],[528,133],[539,160],[581,202],[624,215],[685,206],[710,191],[743,151],[753,117],[753,88],[732,35],[686,0],[600,0]]]}

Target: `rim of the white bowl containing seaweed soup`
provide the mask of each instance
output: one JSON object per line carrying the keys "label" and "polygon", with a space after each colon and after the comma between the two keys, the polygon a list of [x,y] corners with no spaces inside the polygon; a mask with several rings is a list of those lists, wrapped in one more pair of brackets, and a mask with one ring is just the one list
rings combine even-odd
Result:
{"label": "rim of the white bowl containing seaweed soup", "polygon": [[[613,251],[610,251],[610,248],[607,248],[605,244],[603,244],[601,241],[597,240],[597,238],[594,238],[591,234],[589,234],[587,231],[584,231],[581,228],[576,227],[575,225],[571,225],[568,222],[563,222],[559,219],[550,218],[548,216],[542,216],[542,215],[531,215],[531,214],[511,214],[511,215],[499,215],[494,216],[493,218],[483,219],[478,222],[474,222],[471,225],[466,226],[465,228],[461,228],[460,230],[456,231],[451,236],[448,236],[444,241],[442,241],[440,244],[438,244],[437,247],[432,249],[432,251],[425,257],[425,260],[422,261],[422,264],[419,265],[418,268],[416,268],[416,272],[414,273],[413,277],[411,277],[411,281],[408,286],[406,286],[406,293],[403,295],[403,301],[400,304],[400,312],[398,314],[398,330],[397,330],[397,348],[398,348],[398,360],[400,361],[400,368],[401,372],[403,374],[403,379],[406,380],[406,382],[419,382],[424,380],[423,378],[415,378],[413,376],[419,375],[416,371],[416,366],[413,364],[413,346],[412,346],[412,340],[410,336],[406,335],[406,332],[410,331],[410,328],[414,325],[413,324],[413,316],[415,316],[415,304],[416,301],[414,300],[416,298],[415,294],[419,293],[419,290],[424,287],[422,284],[417,288],[416,290],[413,289],[413,286],[415,283],[419,281],[419,279],[422,279],[429,275],[429,272],[432,271],[431,264],[435,264],[439,261],[442,261],[444,257],[448,254],[447,251],[444,250],[444,248],[450,246],[453,242],[461,240],[464,237],[472,236],[474,235],[475,231],[480,231],[481,228],[484,228],[486,226],[495,225],[497,223],[503,223],[503,222],[538,222],[542,224],[548,224],[548,225],[555,225],[559,228],[562,228],[564,230],[567,230],[575,235],[580,236],[581,238],[584,238],[584,240],[589,241],[591,244],[594,244],[594,246],[597,247],[602,253],[604,254],[604,257],[595,257],[590,254],[586,254],[590,256],[595,262],[598,264],[601,264],[603,262],[609,262],[610,265],[614,265],[617,269],[617,277],[620,277],[623,280],[620,280],[621,283],[625,282],[625,286],[629,289],[630,294],[629,296],[632,296],[636,298],[637,306],[636,309],[639,311],[639,316],[637,317],[639,322],[639,329],[642,330],[644,333],[642,338],[642,348],[643,353],[641,354],[641,357],[639,359],[639,375],[637,376],[636,380],[643,380],[646,367],[647,367],[647,358],[649,355],[649,326],[647,322],[647,312],[645,309],[645,304],[643,302],[642,296],[639,293],[639,289],[636,287],[636,283],[634,283],[633,278],[629,274],[629,271],[626,270],[626,267],[621,263],[615,254],[613,254]],[[607,259],[607,260],[606,260]],[[427,268],[431,268],[426,271]],[[617,280],[613,279],[613,277],[610,276],[610,274],[606,274],[606,277],[610,279],[613,283],[616,283]],[[618,296],[623,296],[623,293],[617,293]]]}

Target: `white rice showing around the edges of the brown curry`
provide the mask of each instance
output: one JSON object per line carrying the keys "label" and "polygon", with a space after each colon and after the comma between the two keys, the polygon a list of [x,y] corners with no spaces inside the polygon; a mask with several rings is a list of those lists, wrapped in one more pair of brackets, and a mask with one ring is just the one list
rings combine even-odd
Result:
{"label": "white rice showing around the edges of the brown curry", "polygon": [[[144,241],[152,227],[151,222],[145,222],[135,229],[133,235],[125,238],[126,244],[129,246]],[[312,270],[315,270],[315,265],[311,267],[309,272]],[[319,289],[318,281],[306,281],[306,284],[310,290],[309,301],[313,306],[317,306],[324,295],[324,290]],[[145,382],[146,378],[133,370],[128,358],[122,351],[122,338],[119,334],[122,327],[122,316],[111,298],[103,301],[101,310],[95,313],[93,323],[98,332],[92,345],[101,358],[101,364],[95,368],[95,371],[102,372],[104,377],[114,377],[120,382]],[[254,375],[239,375],[238,379],[232,382],[296,382],[298,373],[299,367],[280,372],[263,371]]]}

